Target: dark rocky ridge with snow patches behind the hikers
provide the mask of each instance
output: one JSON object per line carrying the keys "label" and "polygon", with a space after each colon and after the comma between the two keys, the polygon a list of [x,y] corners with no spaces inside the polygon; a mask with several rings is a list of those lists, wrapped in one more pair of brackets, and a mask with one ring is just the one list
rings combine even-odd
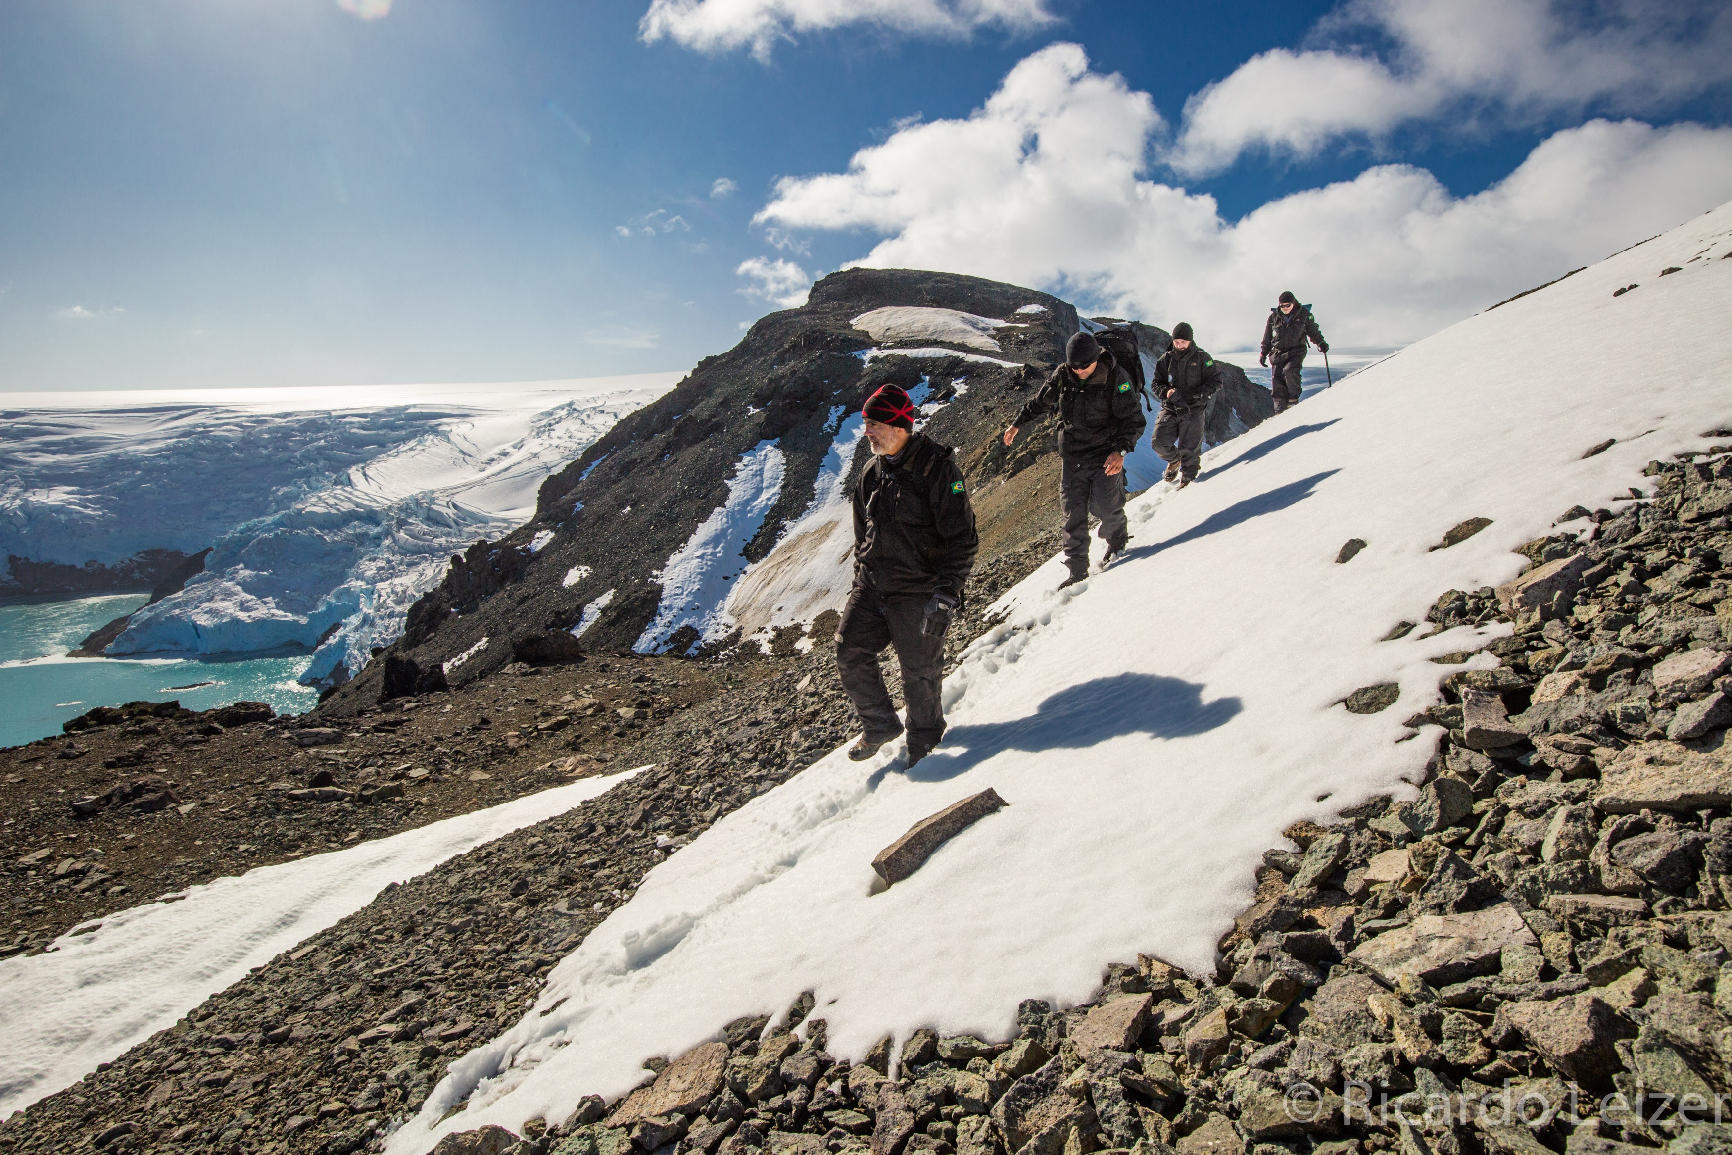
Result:
{"label": "dark rocky ridge with snow patches behind the hikers", "polygon": [[[1005,320],[992,331],[991,355],[980,345],[932,336],[880,341],[852,326],[895,306]],[[759,561],[811,504],[840,417],[857,412],[885,383],[928,390],[925,429],[958,447],[979,495],[982,561],[1025,545],[1051,526],[1055,429],[1043,423],[1010,450],[996,435],[1062,360],[1079,324],[1058,298],[979,277],[831,274],[812,287],[807,305],[764,317],[738,346],[700,362],[670,393],[547,478],[527,525],[454,558],[385,655],[412,663],[398,668],[412,668],[419,689],[445,677],[464,684],[511,661],[520,646],[570,630],[603,596],[608,601],[598,606],[584,642],[606,651],[636,646],[660,606],[663,565],[727,500],[741,457],[774,442],[783,461],[778,497],[743,551],[746,561]],[[1138,326],[1138,338],[1150,355],[1167,343],[1152,326]],[[1268,390],[1228,367],[1209,438],[1235,436],[1271,410]],[[852,469],[864,459],[856,454]],[[667,651],[691,653],[698,642],[696,630],[684,629]],[[376,660],[320,710],[336,717],[371,705],[383,679],[385,661]]]}

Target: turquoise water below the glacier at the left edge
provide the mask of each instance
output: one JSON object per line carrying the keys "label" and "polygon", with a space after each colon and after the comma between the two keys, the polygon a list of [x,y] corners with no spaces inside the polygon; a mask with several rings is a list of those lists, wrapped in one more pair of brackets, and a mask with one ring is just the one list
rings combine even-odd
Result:
{"label": "turquoise water below the glacier at the left edge", "polygon": [[301,713],[319,701],[319,691],[294,681],[312,661],[305,653],[227,660],[61,656],[145,601],[147,594],[0,601],[0,746],[59,734],[61,722],[92,707],[140,698],[178,698],[189,710],[268,701],[277,713]]}

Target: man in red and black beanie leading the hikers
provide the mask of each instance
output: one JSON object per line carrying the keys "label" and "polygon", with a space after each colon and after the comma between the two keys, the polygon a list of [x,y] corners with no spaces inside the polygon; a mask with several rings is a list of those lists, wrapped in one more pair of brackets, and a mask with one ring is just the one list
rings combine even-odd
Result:
{"label": "man in red and black beanie leading the hikers", "polygon": [[869,758],[902,732],[878,672],[878,655],[895,646],[914,765],[944,738],[944,632],[980,537],[951,447],[914,433],[908,393],[887,384],[863,412],[873,459],[854,483],[854,589],[837,627],[837,668],[863,731],[849,757]]}

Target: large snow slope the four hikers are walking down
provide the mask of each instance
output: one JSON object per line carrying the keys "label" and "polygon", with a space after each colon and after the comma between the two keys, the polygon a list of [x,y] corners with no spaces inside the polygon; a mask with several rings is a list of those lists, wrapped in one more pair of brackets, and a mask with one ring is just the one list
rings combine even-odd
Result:
{"label": "large snow slope the four hikers are walking down", "polygon": [[[1289,823],[1420,774],[1436,734],[1403,741],[1401,720],[1438,700],[1450,667],[1429,658],[1469,630],[1377,639],[1446,589],[1512,578],[1510,549],[1562,509],[1614,502],[1732,419],[1729,249],[1732,206],[1408,346],[1219,447],[1202,483],[1140,497],[1121,565],[1055,594],[1053,559],[1006,594],[1010,618],[946,681],[939,752],[902,772],[890,750],[838,750],[724,817],[386,1150],[563,1119],[634,1086],[641,1058],[807,989],[830,1049],[857,1058],[921,1025],[1005,1037],[1018,999],[1082,1001],[1138,951],[1211,966]],[[1604,355],[1607,332],[1642,334],[1640,367]],[[1470,516],[1493,523],[1429,552]],[[1370,545],[1335,565],[1349,537]],[[1394,707],[1335,705],[1384,681]],[[873,894],[882,847],[987,786],[1010,805]]]}

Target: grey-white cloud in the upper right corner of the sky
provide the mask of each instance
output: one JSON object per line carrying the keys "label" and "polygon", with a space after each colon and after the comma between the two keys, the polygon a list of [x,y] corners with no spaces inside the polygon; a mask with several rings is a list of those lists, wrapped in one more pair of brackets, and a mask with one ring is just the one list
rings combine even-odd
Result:
{"label": "grey-white cloud in the upper right corner of the sky", "polygon": [[[1732,7],[1611,0],[1353,0],[1304,52],[1275,48],[1185,106],[1162,159],[1183,175],[1266,149],[1309,158],[1412,121],[1540,123],[1651,113],[1732,80]],[[1356,42],[1368,40],[1373,52]]]}

